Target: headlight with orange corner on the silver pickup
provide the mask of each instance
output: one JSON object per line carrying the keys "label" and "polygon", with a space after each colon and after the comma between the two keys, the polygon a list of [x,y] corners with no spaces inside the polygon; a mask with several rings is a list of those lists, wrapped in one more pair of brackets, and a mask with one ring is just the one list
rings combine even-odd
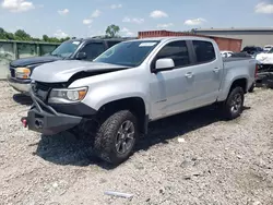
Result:
{"label": "headlight with orange corner on the silver pickup", "polygon": [[71,104],[81,101],[87,94],[87,87],[52,89],[49,95],[49,104]]}

